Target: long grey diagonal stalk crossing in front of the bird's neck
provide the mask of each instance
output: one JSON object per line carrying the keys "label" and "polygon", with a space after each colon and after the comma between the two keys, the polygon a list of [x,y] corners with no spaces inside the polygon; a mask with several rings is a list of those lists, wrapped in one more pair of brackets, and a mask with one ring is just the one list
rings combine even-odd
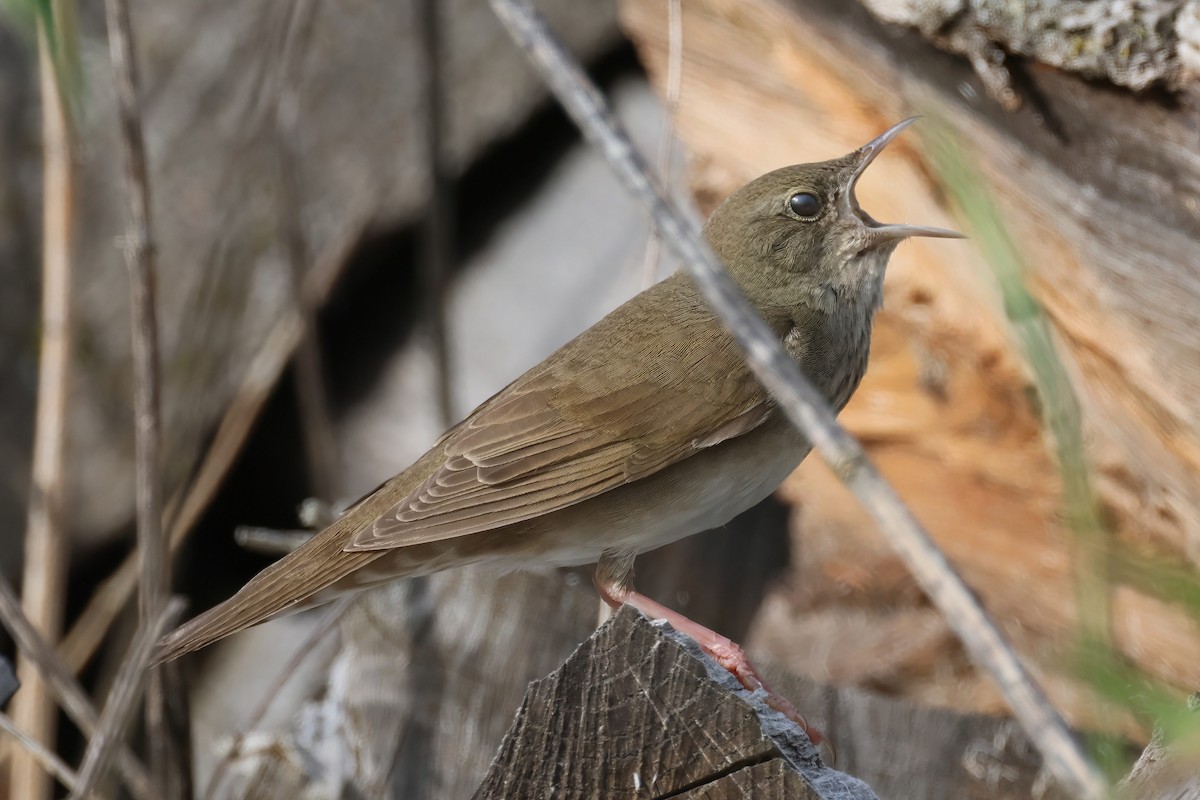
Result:
{"label": "long grey diagonal stalk crossing in front of the bird's neck", "polygon": [[491,4],[584,136],[608,160],[625,188],[646,206],[659,234],[745,350],[746,362],[758,380],[875,517],[974,663],[996,681],[1050,771],[1079,796],[1105,796],[1103,776],[1033,682],[995,621],[875,470],[862,446],[838,425],[826,398],[770,335],[696,224],[655,188],[649,168],[629,136],[583,70],[553,38],[545,19],[526,0],[491,0]]}

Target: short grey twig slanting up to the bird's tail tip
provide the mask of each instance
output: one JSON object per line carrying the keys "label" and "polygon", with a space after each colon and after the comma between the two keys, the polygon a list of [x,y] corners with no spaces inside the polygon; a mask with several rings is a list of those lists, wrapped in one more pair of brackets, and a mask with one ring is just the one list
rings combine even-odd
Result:
{"label": "short grey twig slanting up to the bird's tail tip", "polygon": [[83,800],[91,795],[96,786],[103,780],[108,768],[113,762],[113,753],[125,736],[125,729],[133,718],[138,698],[148,682],[150,655],[154,646],[162,638],[163,632],[184,612],[184,600],[174,597],[167,603],[167,608],[158,614],[158,619],[140,626],[125,662],[116,673],[113,681],[113,690],[104,703],[104,711],[100,716],[100,724],[88,741],[88,750],[83,757],[83,765],[79,768],[79,782],[71,793],[71,800]]}

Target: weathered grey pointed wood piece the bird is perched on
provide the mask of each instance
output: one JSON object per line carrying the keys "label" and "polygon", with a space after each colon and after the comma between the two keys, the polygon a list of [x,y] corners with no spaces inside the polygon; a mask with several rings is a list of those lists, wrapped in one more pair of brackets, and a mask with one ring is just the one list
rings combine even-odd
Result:
{"label": "weathered grey pointed wood piece the bird is perched on", "polygon": [[620,608],[529,685],[476,800],[876,800],[695,642]]}

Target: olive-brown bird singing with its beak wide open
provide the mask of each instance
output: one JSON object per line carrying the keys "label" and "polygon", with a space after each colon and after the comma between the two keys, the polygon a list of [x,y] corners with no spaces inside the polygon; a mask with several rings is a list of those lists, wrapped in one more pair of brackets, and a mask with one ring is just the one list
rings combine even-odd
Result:
{"label": "olive-brown bird singing with its beak wide open", "polygon": [[[763,320],[836,409],[866,369],[883,272],[908,236],[854,184],[913,120],[842,158],[768,173],[704,235]],[[810,445],[775,409],[691,278],[677,272],[601,319],[448,431],[415,464],[168,634],[166,661],[284,612],[467,564],[598,561],[613,606],[666,616],[744,684],[740,649],[634,591],[634,558],[766,498]]]}

